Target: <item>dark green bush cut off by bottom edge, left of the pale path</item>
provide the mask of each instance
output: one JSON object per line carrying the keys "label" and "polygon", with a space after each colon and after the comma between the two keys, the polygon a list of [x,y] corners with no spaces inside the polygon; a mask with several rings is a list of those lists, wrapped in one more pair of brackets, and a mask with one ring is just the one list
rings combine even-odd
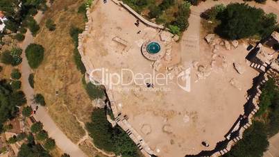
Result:
{"label": "dark green bush cut off by bottom edge, left of the pale path", "polygon": [[28,143],[22,144],[22,147],[19,149],[19,154],[17,157],[51,157],[51,155],[44,150],[44,148],[40,144]]}

